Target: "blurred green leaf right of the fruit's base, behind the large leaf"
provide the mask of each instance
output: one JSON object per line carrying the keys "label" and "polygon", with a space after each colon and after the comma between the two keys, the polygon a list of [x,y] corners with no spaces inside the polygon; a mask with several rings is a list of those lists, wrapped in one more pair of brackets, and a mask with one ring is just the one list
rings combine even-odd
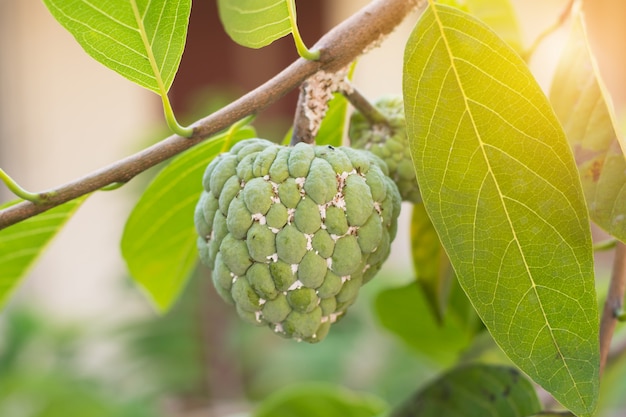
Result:
{"label": "blurred green leaf right of the fruit's base, behind the large leaf", "polygon": [[451,312],[439,321],[422,288],[415,284],[384,290],[376,297],[383,327],[407,345],[444,365],[452,365],[471,342],[476,326]]}

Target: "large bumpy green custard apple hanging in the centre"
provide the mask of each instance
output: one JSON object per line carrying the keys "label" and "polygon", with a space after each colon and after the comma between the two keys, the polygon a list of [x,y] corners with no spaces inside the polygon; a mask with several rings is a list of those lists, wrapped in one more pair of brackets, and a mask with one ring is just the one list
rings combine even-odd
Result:
{"label": "large bumpy green custard apple hanging in the centre", "polygon": [[215,158],[196,206],[198,248],[248,322],[322,340],[389,255],[400,195],[369,152],[249,139]]}

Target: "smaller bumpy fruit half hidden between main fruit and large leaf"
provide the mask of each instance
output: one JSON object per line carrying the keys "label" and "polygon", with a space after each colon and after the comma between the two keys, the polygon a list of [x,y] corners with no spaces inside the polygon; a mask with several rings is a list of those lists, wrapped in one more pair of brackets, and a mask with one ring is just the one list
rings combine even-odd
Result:
{"label": "smaller bumpy fruit half hidden between main fruit and large leaf", "polygon": [[350,144],[356,149],[369,150],[385,161],[402,200],[419,203],[422,197],[406,137],[402,97],[381,98],[375,107],[385,116],[387,124],[371,124],[363,114],[355,112],[350,119]]}

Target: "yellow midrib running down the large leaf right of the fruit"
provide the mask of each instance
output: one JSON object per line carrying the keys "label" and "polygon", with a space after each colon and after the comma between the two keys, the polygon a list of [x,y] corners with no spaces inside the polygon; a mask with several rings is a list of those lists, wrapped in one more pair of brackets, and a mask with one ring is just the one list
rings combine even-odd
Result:
{"label": "yellow midrib running down the large leaf right of the fruit", "polygon": [[[502,205],[502,209],[504,210],[504,213],[505,213],[505,216],[506,216],[506,219],[507,219],[507,223],[508,223],[509,228],[511,230],[511,233],[513,235],[513,241],[515,241],[517,249],[518,249],[518,251],[519,251],[519,253],[520,253],[521,257],[522,257],[522,261],[524,263],[524,268],[526,269],[526,274],[527,274],[527,276],[528,276],[528,278],[530,280],[531,289],[535,293],[535,296],[537,297],[537,302],[538,302],[539,308],[541,310],[541,314],[543,315],[545,324],[546,324],[546,326],[548,328],[548,331],[550,333],[550,337],[551,337],[552,342],[553,342],[553,344],[554,344],[554,346],[555,346],[555,348],[556,348],[556,350],[557,350],[557,352],[559,354],[559,357],[561,358],[561,361],[562,361],[565,369],[567,370],[567,374],[568,374],[568,376],[570,377],[570,379],[572,381],[572,385],[573,385],[574,389],[576,390],[576,393],[578,394],[578,397],[581,399],[581,401],[585,402],[585,400],[583,399],[583,396],[580,393],[580,390],[578,389],[578,385],[576,384],[574,376],[572,375],[572,372],[571,372],[571,370],[570,370],[570,368],[569,368],[569,366],[567,364],[567,361],[565,360],[565,356],[561,352],[560,346],[557,343],[557,340],[556,340],[556,338],[554,336],[554,333],[553,333],[552,326],[550,325],[550,322],[549,322],[549,320],[548,320],[548,318],[546,316],[546,312],[545,312],[545,309],[544,309],[544,306],[543,306],[543,301],[540,298],[539,293],[537,292],[537,284],[535,283],[533,275],[532,275],[532,273],[530,271],[528,262],[526,261],[526,256],[524,254],[524,251],[522,250],[522,246],[520,245],[519,239],[517,237],[517,233],[515,232],[515,228],[513,226],[513,222],[511,221],[511,217],[509,215],[507,206],[506,206],[506,204],[504,202],[504,197],[505,196],[502,194],[502,192],[500,190],[500,185],[498,184],[496,176],[493,173],[493,170],[491,168],[491,164],[490,164],[489,158],[487,157],[487,154],[486,154],[486,151],[485,151],[485,143],[481,139],[481,135],[480,135],[480,133],[478,131],[476,123],[474,122],[474,117],[472,115],[472,111],[471,111],[471,109],[470,109],[470,107],[468,105],[469,97],[465,94],[465,90],[463,89],[463,84],[461,82],[461,77],[460,77],[459,72],[458,72],[458,70],[456,68],[456,65],[454,63],[454,55],[452,54],[452,51],[450,49],[450,45],[448,43],[448,39],[447,39],[446,34],[445,34],[443,22],[441,21],[441,19],[439,17],[439,12],[438,12],[436,6],[434,5],[433,0],[429,0],[429,3],[430,3],[430,7],[431,7],[431,9],[433,11],[433,15],[435,17],[435,20],[437,21],[437,25],[439,27],[439,32],[441,34],[441,38],[442,38],[442,40],[443,40],[443,42],[445,44],[446,52],[448,53],[448,58],[450,60],[450,67],[452,68],[452,71],[454,72],[454,76],[456,78],[457,85],[458,85],[458,87],[459,87],[459,89],[461,91],[461,94],[462,94],[462,97],[463,97],[463,102],[465,104],[466,114],[470,118],[470,122],[471,122],[472,128],[474,130],[474,134],[476,135],[476,139],[478,141],[478,145],[480,147],[481,153],[483,154],[483,158],[484,158],[485,164],[487,166],[487,173],[488,173],[489,176],[491,176],[491,179],[493,180],[493,183],[494,183],[494,185],[496,187],[496,190],[497,190],[497,193],[498,193],[498,197],[499,197],[500,203]],[[483,181],[483,184],[484,184],[484,181]],[[480,194],[480,190],[479,190],[479,194]],[[475,224],[475,222],[474,222],[474,224]],[[475,229],[475,227],[474,227],[474,229]],[[512,324],[512,322],[510,323],[510,325],[511,324]]]}

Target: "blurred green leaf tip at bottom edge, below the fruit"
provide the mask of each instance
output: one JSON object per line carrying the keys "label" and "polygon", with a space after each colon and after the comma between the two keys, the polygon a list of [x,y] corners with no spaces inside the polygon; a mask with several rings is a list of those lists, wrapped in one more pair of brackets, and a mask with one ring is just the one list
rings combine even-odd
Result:
{"label": "blurred green leaf tip at bottom edge, below the fruit", "polygon": [[386,409],[387,404],[371,394],[309,382],[269,396],[252,417],[374,417]]}

